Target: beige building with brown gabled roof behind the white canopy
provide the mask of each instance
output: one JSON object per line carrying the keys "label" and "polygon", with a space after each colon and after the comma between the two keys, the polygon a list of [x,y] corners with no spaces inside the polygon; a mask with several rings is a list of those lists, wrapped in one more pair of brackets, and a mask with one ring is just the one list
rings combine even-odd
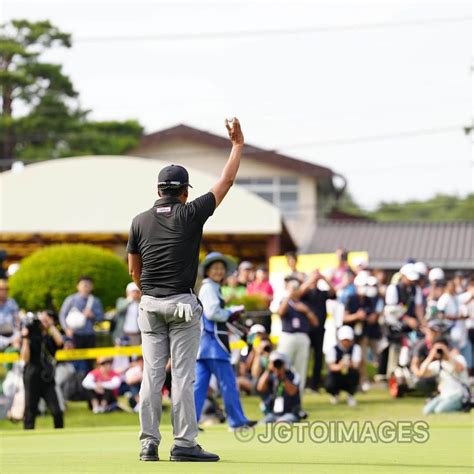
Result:
{"label": "beige building with brown gabled roof behind the white canopy", "polygon": [[[218,175],[229,150],[227,137],[181,124],[145,135],[130,154]],[[336,175],[324,166],[246,144],[236,184],[276,205],[299,244],[312,231],[327,202],[333,200]],[[241,212],[245,215],[246,210]]]}

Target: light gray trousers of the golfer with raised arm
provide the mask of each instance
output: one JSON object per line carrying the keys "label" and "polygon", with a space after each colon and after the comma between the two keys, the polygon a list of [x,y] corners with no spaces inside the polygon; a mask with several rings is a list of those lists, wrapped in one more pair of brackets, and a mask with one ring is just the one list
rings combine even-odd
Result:
{"label": "light gray trousers of the golfer with raised arm", "polygon": [[[174,316],[177,303],[190,304],[193,318]],[[140,441],[160,444],[161,389],[171,356],[171,422],[174,444],[196,445],[198,426],[194,407],[194,374],[201,334],[202,307],[191,293],[168,298],[142,296],[138,326],[142,333],[143,381],[140,388]]]}

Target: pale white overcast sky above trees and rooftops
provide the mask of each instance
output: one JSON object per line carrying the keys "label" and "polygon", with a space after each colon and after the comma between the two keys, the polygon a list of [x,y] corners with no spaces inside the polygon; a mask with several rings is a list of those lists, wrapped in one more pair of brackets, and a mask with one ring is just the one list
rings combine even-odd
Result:
{"label": "pale white overcast sky above trees and rooftops", "polygon": [[235,115],[248,143],[342,173],[364,207],[473,190],[471,2],[0,5],[73,34],[48,59],[93,118],[224,134]]}

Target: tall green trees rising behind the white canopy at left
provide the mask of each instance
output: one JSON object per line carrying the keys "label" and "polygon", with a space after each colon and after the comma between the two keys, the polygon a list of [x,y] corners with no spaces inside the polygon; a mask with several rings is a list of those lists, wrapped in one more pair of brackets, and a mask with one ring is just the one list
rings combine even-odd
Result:
{"label": "tall green trees rising behind the white canopy at left", "polygon": [[70,48],[71,36],[49,21],[0,25],[0,164],[87,154],[122,154],[143,128],[135,120],[97,122],[81,110],[62,66],[43,60],[51,48]]}

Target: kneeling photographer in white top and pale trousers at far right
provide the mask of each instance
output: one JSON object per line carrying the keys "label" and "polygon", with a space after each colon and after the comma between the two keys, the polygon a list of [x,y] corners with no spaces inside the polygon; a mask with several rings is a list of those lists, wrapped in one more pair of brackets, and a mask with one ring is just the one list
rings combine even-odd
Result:
{"label": "kneeling photographer in white top and pale trousers at far right", "polygon": [[423,408],[423,414],[461,411],[470,399],[466,359],[457,350],[450,350],[448,340],[435,339],[428,357],[420,367],[421,377],[439,378],[439,395]]}

